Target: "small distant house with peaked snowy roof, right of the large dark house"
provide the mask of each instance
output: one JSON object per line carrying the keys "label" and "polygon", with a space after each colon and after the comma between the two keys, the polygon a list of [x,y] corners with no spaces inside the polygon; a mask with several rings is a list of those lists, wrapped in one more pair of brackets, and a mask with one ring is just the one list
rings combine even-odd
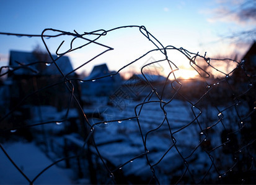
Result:
{"label": "small distant house with peaked snowy roof, right of the large dark house", "polygon": [[110,96],[121,84],[120,74],[115,73],[108,70],[107,64],[95,65],[90,75],[84,78],[88,81],[81,84],[82,96]]}

